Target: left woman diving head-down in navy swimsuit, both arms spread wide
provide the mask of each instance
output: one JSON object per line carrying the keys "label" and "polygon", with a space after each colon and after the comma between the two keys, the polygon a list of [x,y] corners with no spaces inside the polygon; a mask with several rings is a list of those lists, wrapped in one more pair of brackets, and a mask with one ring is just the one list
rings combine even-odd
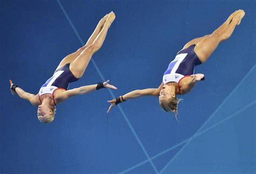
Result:
{"label": "left woman diving head-down in navy swimsuit, both arms spread wide", "polygon": [[87,43],[60,62],[53,76],[44,83],[37,95],[23,91],[22,88],[14,85],[12,80],[10,80],[11,93],[17,93],[22,99],[29,100],[32,105],[38,106],[37,115],[39,121],[50,123],[55,117],[55,106],[60,102],[72,96],[89,93],[100,88],[117,89],[110,85],[109,80],[107,80],[96,85],[67,90],[69,83],[77,81],[83,76],[92,55],[102,46],[107,30],[115,18],[114,13],[110,12],[100,19]]}

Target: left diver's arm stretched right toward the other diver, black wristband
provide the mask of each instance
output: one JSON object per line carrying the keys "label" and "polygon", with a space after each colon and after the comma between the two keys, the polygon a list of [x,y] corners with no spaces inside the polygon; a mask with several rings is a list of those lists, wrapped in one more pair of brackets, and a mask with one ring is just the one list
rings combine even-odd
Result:
{"label": "left diver's arm stretched right toward the other diver, black wristband", "polygon": [[117,89],[117,87],[110,85],[109,84],[109,80],[95,85],[87,85],[87,86],[81,86],[79,88],[74,88],[74,89],[70,89],[68,91],[65,91],[63,94],[60,94],[61,96],[59,96],[59,98],[64,101],[66,99],[71,98],[72,96],[76,96],[76,95],[82,95],[82,94],[86,94],[92,91],[95,91],[97,89],[100,88],[110,88],[110,89]]}

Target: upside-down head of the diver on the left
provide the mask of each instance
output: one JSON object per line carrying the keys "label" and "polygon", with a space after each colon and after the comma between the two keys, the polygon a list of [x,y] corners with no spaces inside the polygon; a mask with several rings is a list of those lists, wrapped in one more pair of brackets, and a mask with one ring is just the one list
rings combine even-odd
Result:
{"label": "upside-down head of the diver on the left", "polygon": [[56,113],[55,105],[39,105],[37,109],[38,120],[43,123],[50,123],[53,121]]}

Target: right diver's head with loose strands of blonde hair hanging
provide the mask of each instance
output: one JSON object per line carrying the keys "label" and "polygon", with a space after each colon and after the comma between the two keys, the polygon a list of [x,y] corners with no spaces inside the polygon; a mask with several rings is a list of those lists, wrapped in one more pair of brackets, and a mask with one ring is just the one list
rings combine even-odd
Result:
{"label": "right diver's head with loose strands of blonde hair hanging", "polygon": [[177,119],[178,103],[181,99],[176,98],[176,86],[176,83],[163,86],[159,94],[159,104],[165,112],[174,112]]}

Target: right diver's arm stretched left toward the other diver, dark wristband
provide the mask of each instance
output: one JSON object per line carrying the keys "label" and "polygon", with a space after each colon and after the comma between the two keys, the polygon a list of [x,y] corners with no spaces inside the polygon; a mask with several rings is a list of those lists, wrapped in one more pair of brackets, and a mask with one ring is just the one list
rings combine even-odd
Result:
{"label": "right diver's arm stretched left toward the other diver, dark wristband", "polygon": [[137,89],[123,96],[119,96],[116,99],[107,101],[111,103],[109,109],[107,110],[107,113],[109,113],[114,106],[118,105],[118,103],[124,102],[129,99],[135,99],[135,98],[139,98],[140,96],[148,96],[148,95],[159,96],[159,93],[161,91],[161,88],[163,88],[163,85],[164,84],[161,83],[161,85],[158,88]]}

